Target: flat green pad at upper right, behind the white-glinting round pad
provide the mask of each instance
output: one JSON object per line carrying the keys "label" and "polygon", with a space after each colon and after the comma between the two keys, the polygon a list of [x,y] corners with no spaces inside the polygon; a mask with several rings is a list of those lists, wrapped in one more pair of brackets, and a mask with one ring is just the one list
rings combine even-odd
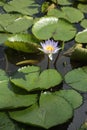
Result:
{"label": "flat green pad at upper right, behind the white-glinting round pad", "polygon": [[[71,13],[72,13],[72,15],[71,15]],[[64,18],[71,23],[78,23],[79,21],[81,21],[84,18],[83,13],[73,7],[62,7],[61,10],[59,10],[59,9],[49,10],[48,16]]]}

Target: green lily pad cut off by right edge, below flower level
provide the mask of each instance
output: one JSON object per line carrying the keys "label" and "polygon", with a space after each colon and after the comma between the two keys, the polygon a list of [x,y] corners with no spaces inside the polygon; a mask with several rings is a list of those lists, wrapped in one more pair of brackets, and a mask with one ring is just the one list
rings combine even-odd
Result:
{"label": "green lily pad cut off by right edge, below flower level", "polygon": [[87,67],[68,72],[65,75],[65,82],[76,90],[87,92]]}

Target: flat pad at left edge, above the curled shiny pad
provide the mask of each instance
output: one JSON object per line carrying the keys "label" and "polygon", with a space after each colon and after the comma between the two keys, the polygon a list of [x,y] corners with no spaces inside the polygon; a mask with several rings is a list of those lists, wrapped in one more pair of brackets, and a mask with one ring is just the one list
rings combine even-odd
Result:
{"label": "flat pad at left edge, above the curled shiny pad", "polygon": [[33,24],[33,18],[19,14],[0,14],[0,31],[19,33],[26,31]]}

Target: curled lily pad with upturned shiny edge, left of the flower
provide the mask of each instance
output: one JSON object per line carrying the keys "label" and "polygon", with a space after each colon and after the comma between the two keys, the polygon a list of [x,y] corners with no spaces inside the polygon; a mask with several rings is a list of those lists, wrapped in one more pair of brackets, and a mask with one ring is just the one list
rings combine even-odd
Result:
{"label": "curled lily pad with upturned shiny edge, left of the flower", "polygon": [[32,34],[16,34],[7,39],[6,46],[27,53],[38,52],[39,40]]}

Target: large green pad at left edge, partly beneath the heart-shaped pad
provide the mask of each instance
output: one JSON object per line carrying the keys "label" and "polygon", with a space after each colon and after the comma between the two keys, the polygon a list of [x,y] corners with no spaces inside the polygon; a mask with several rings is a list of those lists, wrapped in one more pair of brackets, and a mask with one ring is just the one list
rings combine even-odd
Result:
{"label": "large green pad at left edge, partly beneath the heart-shaped pad", "polygon": [[12,90],[9,78],[3,70],[0,70],[0,109],[18,108],[30,106],[37,101],[37,95],[21,95]]}

